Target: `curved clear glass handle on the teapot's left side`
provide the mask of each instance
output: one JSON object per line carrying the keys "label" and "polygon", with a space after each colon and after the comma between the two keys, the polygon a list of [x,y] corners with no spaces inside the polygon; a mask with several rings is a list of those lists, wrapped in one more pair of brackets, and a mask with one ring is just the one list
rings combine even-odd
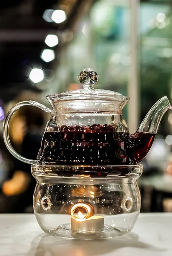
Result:
{"label": "curved clear glass handle on the teapot's left side", "polygon": [[46,106],[44,106],[43,104],[40,104],[38,102],[29,100],[29,101],[23,101],[23,102],[19,102],[17,103],[13,108],[11,108],[11,110],[7,113],[6,119],[3,123],[3,139],[4,142],[6,144],[6,147],[8,148],[8,150],[10,151],[10,153],[16,157],[18,160],[24,162],[24,163],[29,163],[29,164],[37,164],[37,160],[32,160],[32,159],[28,159],[25,157],[22,157],[20,154],[18,154],[14,148],[11,145],[10,139],[9,139],[9,120],[11,119],[11,116],[21,107],[23,106],[34,106],[37,108],[42,109],[43,111],[47,112],[47,113],[52,113],[52,110],[47,108]]}

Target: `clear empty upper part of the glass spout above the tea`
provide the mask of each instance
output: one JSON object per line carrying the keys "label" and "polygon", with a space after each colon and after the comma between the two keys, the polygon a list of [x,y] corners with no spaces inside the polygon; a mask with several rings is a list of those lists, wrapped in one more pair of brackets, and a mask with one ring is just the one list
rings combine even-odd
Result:
{"label": "clear empty upper part of the glass spout above the tea", "polygon": [[138,131],[147,133],[157,133],[160,121],[168,109],[172,109],[167,96],[159,99],[149,110]]}

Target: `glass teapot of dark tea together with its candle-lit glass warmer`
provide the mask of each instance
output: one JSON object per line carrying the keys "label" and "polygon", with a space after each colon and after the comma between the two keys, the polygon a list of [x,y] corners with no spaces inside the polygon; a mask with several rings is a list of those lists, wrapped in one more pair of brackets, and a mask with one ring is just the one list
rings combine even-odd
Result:
{"label": "glass teapot of dark tea together with its candle-lit glass warmer", "polygon": [[[129,134],[122,114],[129,98],[94,89],[98,74],[90,68],[78,79],[83,89],[46,97],[52,110],[34,101],[15,105],[4,121],[4,141],[14,157],[32,164],[34,212],[46,233],[83,239],[122,236],[140,212],[140,162],[171,105],[166,96],[160,99]],[[9,140],[9,120],[24,105],[51,114],[37,160],[19,155]]]}

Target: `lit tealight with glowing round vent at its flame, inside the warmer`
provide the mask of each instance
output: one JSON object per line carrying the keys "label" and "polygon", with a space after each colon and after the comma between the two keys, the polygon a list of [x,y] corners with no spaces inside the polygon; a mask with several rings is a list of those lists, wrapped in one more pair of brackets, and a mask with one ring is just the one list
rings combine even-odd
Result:
{"label": "lit tealight with glowing round vent at its flame, inside the warmer", "polygon": [[[84,209],[86,214],[78,212],[75,215],[75,210]],[[71,209],[71,231],[73,233],[100,233],[104,227],[104,217],[91,215],[92,207],[88,204],[76,204]]]}

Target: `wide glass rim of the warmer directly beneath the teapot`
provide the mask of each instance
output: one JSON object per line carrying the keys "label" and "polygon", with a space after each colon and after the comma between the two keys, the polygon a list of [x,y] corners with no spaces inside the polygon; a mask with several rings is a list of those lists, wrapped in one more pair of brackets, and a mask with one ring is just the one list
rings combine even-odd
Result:
{"label": "wide glass rim of the warmer directly beneath the teapot", "polygon": [[[104,168],[103,168],[104,167]],[[101,168],[101,169],[100,169]],[[32,165],[32,175],[41,182],[69,184],[99,184],[116,182],[135,182],[143,172],[143,165],[125,166],[53,166],[53,165]],[[94,176],[97,173],[102,176]]]}

